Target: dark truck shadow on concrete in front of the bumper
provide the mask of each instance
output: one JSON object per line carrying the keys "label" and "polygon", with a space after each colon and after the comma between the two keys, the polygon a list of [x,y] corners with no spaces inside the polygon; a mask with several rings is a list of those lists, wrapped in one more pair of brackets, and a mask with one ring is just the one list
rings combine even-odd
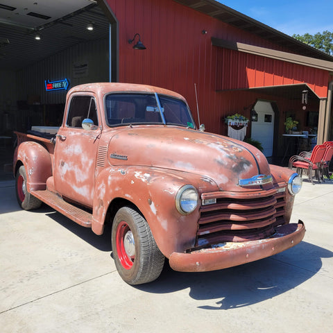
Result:
{"label": "dark truck shadow on concrete in front of the bumper", "polygon": [[246,307],[298,287],[318,273],[321,258],[329,257],[333,257],[330,250],[303,241],[284,253],[221,271],[180,273],[166,265],[160,278],[137,289],[172,293],[189,288],[194,300],[210,300],[210,304],[216,300],[214,305],[201,305],[200,309]]}

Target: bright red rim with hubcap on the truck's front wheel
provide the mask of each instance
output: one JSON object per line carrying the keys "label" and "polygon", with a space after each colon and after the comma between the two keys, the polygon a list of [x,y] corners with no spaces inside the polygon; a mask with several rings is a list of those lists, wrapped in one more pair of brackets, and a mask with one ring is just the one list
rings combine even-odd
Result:
{"label": "bright red rim with hubcap on the truck's front wheel", "polygon": [[[131,235],[132,232],[128,224],[125,221],[121,221],[116,231],[116,246],[119,261],[123,268],[126,269],[132,268],[135,259],[135,252],[133,252],[134,239]],[[129,250],[130,246],[132,247],[132,251]]]}

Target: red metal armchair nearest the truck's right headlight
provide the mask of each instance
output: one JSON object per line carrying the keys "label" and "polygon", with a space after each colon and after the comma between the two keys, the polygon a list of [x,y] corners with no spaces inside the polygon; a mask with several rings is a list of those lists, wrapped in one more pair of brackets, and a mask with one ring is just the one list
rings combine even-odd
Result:
{"label": "red metal armchair nearest the truck's right headlight", "polygon": [[312,178],[312,171],[315,171],[318,182],[321,182],[321,164],[323,162],[323,156],[327,147],[323,144],[317,144],[314,146],[314,150],[311,152],[309,157],[303,157],[300,155],[294,155],[290,157],[289,169],[296,167],[296,172],[302,176],[303,170],[307,170],[309,180],[314,184]]}

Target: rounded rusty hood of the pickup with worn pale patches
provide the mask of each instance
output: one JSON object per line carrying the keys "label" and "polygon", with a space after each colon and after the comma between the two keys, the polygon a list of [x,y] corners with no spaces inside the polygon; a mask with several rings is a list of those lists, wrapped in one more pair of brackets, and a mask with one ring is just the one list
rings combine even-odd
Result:
{"label": "rounded rusty hood of the pickup with worn pale patches", "polygon": [[266,157],[254,146],[229,137],[167,126],[126,127],[112,137],[112,165],[136,165],[197,173],[219,189],[244,191],[239,179],[270,175]]}

